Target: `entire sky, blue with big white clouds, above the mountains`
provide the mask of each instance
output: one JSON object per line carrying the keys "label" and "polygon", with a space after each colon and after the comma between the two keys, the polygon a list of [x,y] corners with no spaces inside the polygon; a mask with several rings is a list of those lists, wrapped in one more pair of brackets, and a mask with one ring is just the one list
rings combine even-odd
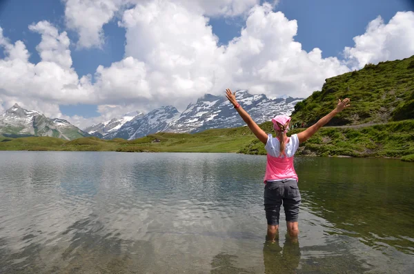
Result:
{"label": "entire sky, blue with big white clouds, above the mountains", "polygon": [[206,93],[308,97],[414,55],[410,0],[0,1],[0,112],[85,128]]}

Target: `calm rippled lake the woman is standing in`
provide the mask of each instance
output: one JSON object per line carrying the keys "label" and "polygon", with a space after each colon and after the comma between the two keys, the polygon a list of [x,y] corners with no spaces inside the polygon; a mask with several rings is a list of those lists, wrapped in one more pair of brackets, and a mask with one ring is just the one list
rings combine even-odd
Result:
{"label": "calm rippled lake the woman is standing in", "polygon": [[0,273],[414,273],[414,164],[296,157],[299,239],[266,243],[266,157],[0,152]]}

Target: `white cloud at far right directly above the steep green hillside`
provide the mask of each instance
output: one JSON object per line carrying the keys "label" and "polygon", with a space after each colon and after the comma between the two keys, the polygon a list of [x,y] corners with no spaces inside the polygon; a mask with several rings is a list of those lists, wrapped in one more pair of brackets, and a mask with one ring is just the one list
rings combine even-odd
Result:
{"label": "white cloud at far right directly above the steep green hillside", "polygon": [[353,69],[410,57],[414,55],[414,12],[397,12],[387,24],[379,16],[368,24],[364,35],[353,40],[355,47],[344,50]]}

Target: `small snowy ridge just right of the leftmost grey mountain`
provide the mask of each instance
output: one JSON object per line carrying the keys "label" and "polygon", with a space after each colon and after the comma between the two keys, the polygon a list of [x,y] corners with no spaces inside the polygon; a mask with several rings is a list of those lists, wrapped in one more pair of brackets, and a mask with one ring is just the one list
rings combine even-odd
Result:
{"label": "small snowy ridge just right of the leftmost grey mountain", "polygon": [[103,139],[113,139],[115,138],[115,135],[117,135],[117,131],[119,130],[119,128],[121,128],[121,126],[124,126],[126,122],[131,121],[135,117],[138,118],[143,116],[144,113],[133,111],[127,113],[121,118],[114,118],[109,121],[104,121],[102,123],[95,124],[93,126],[85,128],[85,131],[95,137],[100,137]]}

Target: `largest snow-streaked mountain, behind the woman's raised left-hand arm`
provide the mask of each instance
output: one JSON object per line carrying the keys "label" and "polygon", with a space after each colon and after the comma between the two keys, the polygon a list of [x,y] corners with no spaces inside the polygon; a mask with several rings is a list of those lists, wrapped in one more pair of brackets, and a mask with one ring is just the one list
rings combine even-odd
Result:
{"label": "largest snow-streaked mountain, behind the woman's raised left-hand arm", "polygon": [[[237,102],[257,124],[270,121],[280,114],[290,115],[302,98],[268,99],[266,95],[251,95],[246,90],[236,92]],[[164,131],[197,133],[209,128],[243,126],[244,121],[225,97],[204,95],[196,104],[190,104],[180,117],[171,121]]]}

